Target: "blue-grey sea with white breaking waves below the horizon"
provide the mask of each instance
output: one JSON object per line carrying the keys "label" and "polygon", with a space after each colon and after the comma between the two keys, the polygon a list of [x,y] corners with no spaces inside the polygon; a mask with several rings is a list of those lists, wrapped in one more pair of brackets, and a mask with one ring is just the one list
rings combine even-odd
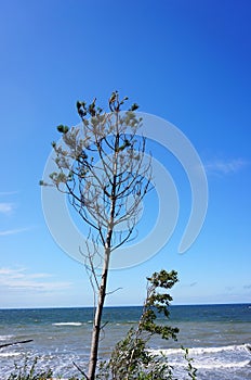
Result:
{"label": "blue-grey sea with white breaking waves below the horizon", "polygon": [[[142,307],[106,307],[103,315],[100,359],[136,326]],[[53,369],[55,377],[80,376],[74,366],[87,369],[93,311],[89,307],[0,309],[0,379],[14,365],[28,365],[38,357],[38,368]],[[175,377],[189,379],[181,346],[188,347],[198,380],[251,379],[251,304],[171,306],[169,325],[177,327],[177,342],[153,339],[149,350],[167,355]]]}

